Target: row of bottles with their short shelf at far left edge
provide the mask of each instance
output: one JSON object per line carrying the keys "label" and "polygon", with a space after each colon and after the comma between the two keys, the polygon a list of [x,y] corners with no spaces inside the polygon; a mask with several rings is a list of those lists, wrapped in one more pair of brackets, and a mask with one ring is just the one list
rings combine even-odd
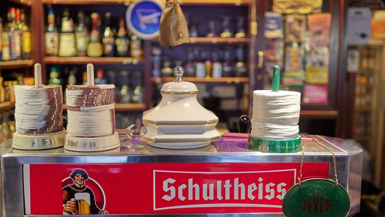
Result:
{"label": "row of bottles with their short shelf at far left edge", "polygon": [[0,17],[0,33],[0,68],[31,66],[31,33],[25,23],[25,9],[9,8],[7,16]]}

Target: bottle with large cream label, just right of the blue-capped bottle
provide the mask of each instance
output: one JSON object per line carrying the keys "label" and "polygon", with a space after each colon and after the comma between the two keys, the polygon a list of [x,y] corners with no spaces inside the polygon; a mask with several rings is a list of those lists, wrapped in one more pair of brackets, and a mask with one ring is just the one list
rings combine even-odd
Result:
{"label": "bottle with large cream label, just right of the blue-capped bottle", "polygon": [[59,38],[59,56],[70,57],[76,55],[75,34],[72,25],[69,9],[65,8]]}

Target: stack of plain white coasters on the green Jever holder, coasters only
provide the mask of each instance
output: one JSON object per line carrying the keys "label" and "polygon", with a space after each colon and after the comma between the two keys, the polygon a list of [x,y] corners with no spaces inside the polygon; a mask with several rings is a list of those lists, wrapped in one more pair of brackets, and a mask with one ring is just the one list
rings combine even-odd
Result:
{"label": "stack of plain white coasters on the green Jever holder, coasters only", "polygon": [[253,92],[251,136],[261,139],[293,139],[298,136],[301,93],[294,91]]}

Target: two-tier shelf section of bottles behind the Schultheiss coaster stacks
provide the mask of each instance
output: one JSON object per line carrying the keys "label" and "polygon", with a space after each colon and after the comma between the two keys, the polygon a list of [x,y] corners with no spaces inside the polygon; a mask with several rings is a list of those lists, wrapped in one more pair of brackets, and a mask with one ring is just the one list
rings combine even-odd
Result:
{"label": "two-tier shelf section of bottles behind the Schultheiss coaster stacks", "polygon": [[[101,16],[94,12],[100,7],[47,7],[44,62],[50,72],[48,83],[62,85],[63,90],[66,85],[85,84],[85,66],[92,63],[95,84],[115,85],[116,111],[143,111],[147,107],[143,102],[142,41],[128,32],[123,17],[116,17],[122,8],[115,9],[111,9],[114,14]],[[62,16],[55,17],[54,10]],[[74,11],[77,19],[70,14]]]}

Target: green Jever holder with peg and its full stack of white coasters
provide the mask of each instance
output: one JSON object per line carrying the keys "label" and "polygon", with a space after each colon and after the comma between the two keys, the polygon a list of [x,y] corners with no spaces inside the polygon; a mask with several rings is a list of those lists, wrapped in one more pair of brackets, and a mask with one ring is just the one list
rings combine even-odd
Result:
{"label": "green Jever holder with peg and its full stack of white coasters", "polygon": [[267,153],[301,151],[298,135],[301,93],[280,90],[280,67],[273,68],[273,90],[253,92],[248,149]]}

